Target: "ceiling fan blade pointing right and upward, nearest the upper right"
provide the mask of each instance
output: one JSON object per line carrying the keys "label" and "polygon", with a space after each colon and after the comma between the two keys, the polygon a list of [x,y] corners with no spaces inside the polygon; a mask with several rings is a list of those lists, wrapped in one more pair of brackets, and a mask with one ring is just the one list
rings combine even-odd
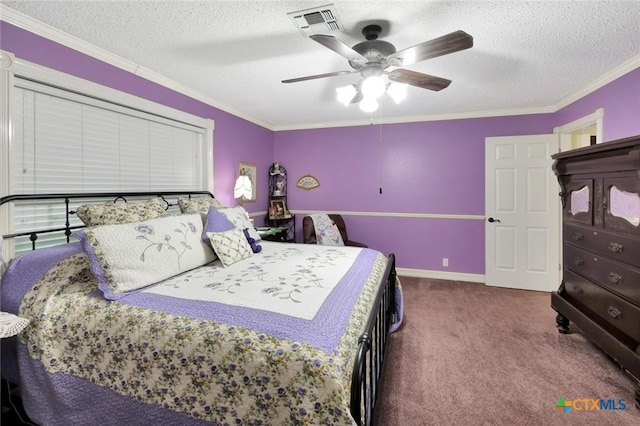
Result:
{"label": "ceiling fan blade pointing right and upward, nearest the upper right", "polygon": [[387,57],[387,61],[393,65],[397,62],[397,66],[407,66],[424,61],[425,59],[436,58],[459,50],[468,49],[472,46],[473,37],[464,31],[454,31],[442,37],[434,38],[433,40],[425,41],[424,43],[392,53]]}

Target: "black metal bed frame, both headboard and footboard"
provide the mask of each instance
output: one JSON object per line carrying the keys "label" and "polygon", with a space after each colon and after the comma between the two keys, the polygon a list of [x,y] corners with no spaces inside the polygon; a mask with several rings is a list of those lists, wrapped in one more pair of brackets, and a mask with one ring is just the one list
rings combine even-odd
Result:
{"label": "black metal bed frame, both headboard and footboard", "polygon": [[[11,202],[28,202],[51,200],[52,202],[64,203],[65,222],[64,226],[47,228],[37,231],[28,231],[3,235],[3,238],[16,238],[29,236],[31,248],[35,250],[38,235],[53,232],[64,232],[67,243],[70,242],[71,234],[74,230],[83,228],[84,225],[71,226],[70,217],[75,214],[70,207],[71,200],[91,200],[100,202],[113,200],[117,202],[127,201],[127,198],[134,197],[160,197],[166,203],[166,209],[174,206],[167,201],[172,197],[209,196],[213,194],[207,191],[168,191],[168,192],[93,192],[74,194],[20,194],[9,195],[0,198],[0,206]],[[358,350],[353,364],[351,376],[351,415],[358,425],[371,425],[374,422],[374,409],[380,390],[381,378],[383,374],[383,363],[389,349],[389,330],[395,321],[396,304],[396,269],[395,255],[388,256],[388,263],[383,275],[383,284],[378,289],[373,308],[366,323],[366,327],[358,339]]]}

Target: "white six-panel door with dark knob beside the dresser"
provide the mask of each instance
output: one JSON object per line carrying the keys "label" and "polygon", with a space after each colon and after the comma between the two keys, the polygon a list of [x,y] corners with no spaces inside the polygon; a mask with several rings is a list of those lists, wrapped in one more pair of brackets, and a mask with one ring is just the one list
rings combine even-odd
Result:
{"label": "white six-panel door with dark knob beside the dresser", "polygon": [[558,135],[485,139],[485,281],[553,291],[560,284]]}

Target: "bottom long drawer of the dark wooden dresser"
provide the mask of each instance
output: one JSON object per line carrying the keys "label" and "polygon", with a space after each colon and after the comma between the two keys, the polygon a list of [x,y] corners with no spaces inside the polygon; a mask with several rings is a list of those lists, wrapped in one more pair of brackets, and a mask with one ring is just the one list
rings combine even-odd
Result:
{"label": "bottom long drawer of the dark wooden dresser", "polygon": [[564,272],[564,286],[567,295],[640,342],[640,308],[571,271]]}

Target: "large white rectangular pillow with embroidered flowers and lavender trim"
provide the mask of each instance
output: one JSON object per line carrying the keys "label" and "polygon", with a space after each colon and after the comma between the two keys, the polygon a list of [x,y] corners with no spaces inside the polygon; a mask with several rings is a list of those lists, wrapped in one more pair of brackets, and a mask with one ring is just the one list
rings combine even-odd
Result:
{"label": "large white rectangular pillow with embroidered flowers and lavender trim", "polygon": [[98,287],[111,300],[215,260],[201,239],[197,213],[98,226],[76,235]]}

